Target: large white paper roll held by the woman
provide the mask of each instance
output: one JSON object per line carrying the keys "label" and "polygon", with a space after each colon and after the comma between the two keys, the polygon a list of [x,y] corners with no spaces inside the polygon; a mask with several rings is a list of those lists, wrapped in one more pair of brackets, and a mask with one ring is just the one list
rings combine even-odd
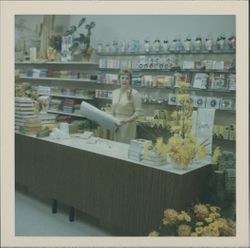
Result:
{"label": "large white paper roll held by the woman", "polygon": [[111,131],[115,131],[120,125],[120,120],[112,116],[111,114],[101,111],[93,105],[82,101],[81,114],[89,120],[97,122],[100,126],[107,128]]}

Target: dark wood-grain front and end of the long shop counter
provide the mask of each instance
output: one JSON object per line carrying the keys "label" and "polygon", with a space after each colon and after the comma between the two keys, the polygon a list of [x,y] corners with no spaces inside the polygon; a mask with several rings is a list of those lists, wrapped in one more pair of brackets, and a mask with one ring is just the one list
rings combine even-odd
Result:
{"label": "dark wood-grain front and end of the long shop counter", "polygon": [[127,235],[147,235],[159,226],[164,209],[189,206],[203,193],[210,171],[206,165],[178,174],[79,148],[83,141],[77,142],[16,134],[16,183]]}

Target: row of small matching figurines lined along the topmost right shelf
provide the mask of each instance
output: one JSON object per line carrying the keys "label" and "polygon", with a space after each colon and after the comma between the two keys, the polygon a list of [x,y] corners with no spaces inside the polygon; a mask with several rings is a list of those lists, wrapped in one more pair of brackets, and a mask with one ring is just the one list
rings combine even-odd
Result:
{"label": "row of small matching figurines lined along the topmost right shelf", "polygon": [[225,34],[220,34],[216,39],[213,39],[210,34],[202,38],[200,34],[196,35],[193,39],[187,35],[185,39],[181,40],[180,35],[175,36],[173,39],[150,39],[149,37],[144,40],[131,39],[130,41],[117,41],[97,44],[96,50],[98,53],[136,53],[136,52],[167,52],[167,51],[198,51],[198,50],[223,50],[235,49],[236,36],[231,35],[226,37]]}

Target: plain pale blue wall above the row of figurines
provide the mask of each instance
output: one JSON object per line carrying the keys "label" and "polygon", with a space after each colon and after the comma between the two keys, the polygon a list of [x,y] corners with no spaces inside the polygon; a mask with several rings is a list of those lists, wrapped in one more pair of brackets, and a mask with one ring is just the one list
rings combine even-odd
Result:
{"label": "plain pale blue wall above the row of figurines", "polygon": [[[86,15],[85,15],[86,16]],[[78,24],[82,16],[70,16],[70,25]],[[211,34],[214,39],[221,33],[226,37],[235,34],[235,16],[229,15],[89,15],[87,22],[96,22],[92,30],[92,44],[113,40],[151,40],[179,36],[182,40],[190,35],[192,39],[200,34],[205,38]]]}

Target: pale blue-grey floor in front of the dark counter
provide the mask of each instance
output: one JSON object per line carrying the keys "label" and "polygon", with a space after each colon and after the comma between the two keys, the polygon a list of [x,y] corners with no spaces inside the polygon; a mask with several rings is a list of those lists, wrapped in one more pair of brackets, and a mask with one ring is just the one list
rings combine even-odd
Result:
{"label": "pale blue-grey floor in front of the dark counter", "polygon": [[16,236],[112,236],[92,222],[79,217],[70,222],[66,212],[52,214],[49,204],[20,191],[15,193]]}

